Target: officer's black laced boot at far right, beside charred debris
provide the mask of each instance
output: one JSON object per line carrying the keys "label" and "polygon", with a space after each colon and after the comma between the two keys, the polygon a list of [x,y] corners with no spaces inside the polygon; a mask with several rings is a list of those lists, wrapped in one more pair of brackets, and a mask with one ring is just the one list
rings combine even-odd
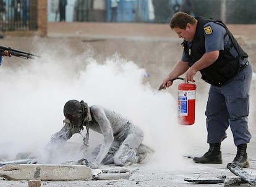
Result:
{"label": "officer's black laced boot at far right, beside charred debris", "polygon": [[233,163],[240,167],[249,167],[246,153],[247,144],[237,145],[237,153]]}

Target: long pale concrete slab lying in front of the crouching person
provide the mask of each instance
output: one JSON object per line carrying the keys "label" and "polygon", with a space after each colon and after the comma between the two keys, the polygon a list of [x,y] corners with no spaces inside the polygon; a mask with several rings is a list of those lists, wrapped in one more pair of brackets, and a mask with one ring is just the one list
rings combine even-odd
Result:
{"label": "long pale concrete slab lying in front of the crouching person", "polygon": [[0,169],[0,177],[8,180],[88,180],[91,175],[85,165],[6,164]]}

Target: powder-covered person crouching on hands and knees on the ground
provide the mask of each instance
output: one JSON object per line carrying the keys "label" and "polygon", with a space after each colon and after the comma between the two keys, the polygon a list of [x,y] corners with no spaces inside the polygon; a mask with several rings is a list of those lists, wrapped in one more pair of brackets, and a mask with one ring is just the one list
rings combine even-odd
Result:
{"label": "powder-covered person crouching on hands and knees on the ground", "polygon": [[56,132],[46,146],[48,150],[69,140],[86,128],[83,147],[88,147],[89,129],[103,135],[103,143],[95,149],[95,160],[89,167],[100,164],[131,165],[141,162],[153,150],[142,144],[142,130],[129,120],[102,106],[69,100],[64,105],[64,127]]}

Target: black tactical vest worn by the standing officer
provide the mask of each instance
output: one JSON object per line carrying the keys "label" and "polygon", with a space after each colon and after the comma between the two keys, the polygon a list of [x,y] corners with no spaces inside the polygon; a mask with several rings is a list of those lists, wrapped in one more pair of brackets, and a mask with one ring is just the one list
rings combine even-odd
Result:
{"label": "black tactical vest worn by the standing officer", "polygon": [[[187,41],[184,40],[182,43],[184,52],[190,58],[189,66],[192,66],[197,60],[199,60],[203,54],[205,54],[205,36],[203,26],[208,22],[215,22],[223,26],[229,38],[232,41],[232,44],[228,47],[224,47],[224,50],[220,50],[220,55],[218,59],[208,66],[200,70],[202,74],[202,79],[213,86],[222,86],[227,84],[236,74],[239,72],[239,61],[247,58],[248,55],[242,50],[241,46],[237,43],[233,34],[228,30],[226,25],[220,20],[212,20],[203,17],[195,17],[197,22],[197,30],[195,31],[195,36],[192,41],[192,47],[189,49],[187,47]],[[234,47],[238,53],[236,57],[231,55],[229,49]]]}

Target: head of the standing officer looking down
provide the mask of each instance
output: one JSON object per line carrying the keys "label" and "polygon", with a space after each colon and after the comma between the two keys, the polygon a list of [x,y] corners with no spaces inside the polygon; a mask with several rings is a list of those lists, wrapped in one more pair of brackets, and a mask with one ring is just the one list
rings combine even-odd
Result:
{"label": "head of the standing officer looking down", "polygon": [[197,30],[197,20],[194,17],[185,12],[177,12],[171,18],[169,25],[178,34],[179,38],[193,41]]}

